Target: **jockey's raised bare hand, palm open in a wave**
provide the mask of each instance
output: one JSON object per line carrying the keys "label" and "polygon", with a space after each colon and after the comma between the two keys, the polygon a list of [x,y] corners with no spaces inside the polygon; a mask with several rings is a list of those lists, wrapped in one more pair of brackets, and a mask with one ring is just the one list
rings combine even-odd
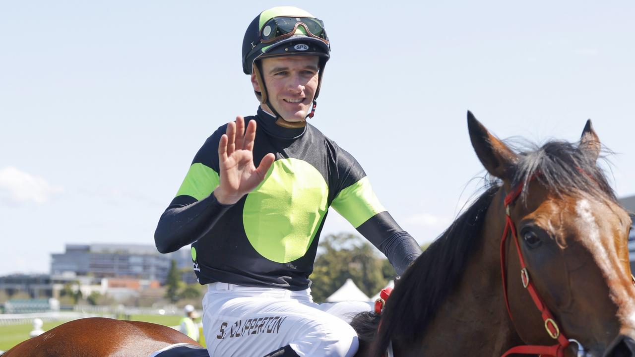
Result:
{"label": "jockey's raised bare hand, palm open in a wave", "polygon": [[220,184],[213,194],[219,203],[233,205],[245,194],[253,191],[262,180],[276,157],[271,152],[262,158],[260,165],[253,165],[253,141],[256,138],[256,121],[252,120],[244,130],[244,119],[227,125],[227,131],[218,143]]}

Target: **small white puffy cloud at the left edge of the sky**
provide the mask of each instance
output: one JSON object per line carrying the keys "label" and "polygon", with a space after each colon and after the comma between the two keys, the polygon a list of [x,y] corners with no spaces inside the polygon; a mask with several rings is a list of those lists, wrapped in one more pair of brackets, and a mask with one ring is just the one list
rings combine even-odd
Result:
{"label": "small white puffy cloud at the left edge of the sky", "polygon": [[62,187],[52,186],[42,177],[20,171],[13,166],[0,170],[0,202],[42,205],[59,192],[62,192]]}

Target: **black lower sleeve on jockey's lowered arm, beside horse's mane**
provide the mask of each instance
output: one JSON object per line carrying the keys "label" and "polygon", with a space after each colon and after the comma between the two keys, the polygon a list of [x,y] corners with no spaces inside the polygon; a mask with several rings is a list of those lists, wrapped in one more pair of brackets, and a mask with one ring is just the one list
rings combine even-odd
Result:
{"label": "black lower sleeve on jockey's lowered arm, beside horse's mane", "polygon": [[417,241],[401,229],[386,211],[366,220],[357,230],[384,253],[398,275],[403,274],[422,253]]}

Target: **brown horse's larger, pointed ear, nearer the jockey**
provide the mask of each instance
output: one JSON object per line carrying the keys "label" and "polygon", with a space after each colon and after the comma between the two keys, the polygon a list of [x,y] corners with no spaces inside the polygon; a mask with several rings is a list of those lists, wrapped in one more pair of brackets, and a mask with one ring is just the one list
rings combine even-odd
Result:
{"label": "brown horse's larger, pointed ear, nearer the jockey", "polygon": [[511,180],[518,156],[481,124],[472,112],[467,111],[467,128],[472,147],[485,169],[502,180]]}

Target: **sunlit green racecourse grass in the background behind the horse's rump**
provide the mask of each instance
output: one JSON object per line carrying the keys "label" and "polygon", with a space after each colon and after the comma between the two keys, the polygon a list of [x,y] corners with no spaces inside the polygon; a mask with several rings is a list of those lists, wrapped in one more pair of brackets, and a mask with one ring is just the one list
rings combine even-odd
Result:
{"label": "sunlit green racecourse grass in the background behind the horse's rump", "polygon": [[[178,321],[181,320],[181,316],[171,316],[171,315],[132,315],[130,316],[130,320],[132,321],[145,321],[150,323],[157,323],[159,325],[164,326],[176,326],[178,325]],[[44,331],[48,331],[51,328],[62,325],[65,321],[57,321],[57,322],[47,322],[44,323],[42,329]],[[29,332],[33,330],[32,324],[27,325],[11,325],[11,326],[0,326],[0,350],[6,351],[11,347],[19,344],[23,340],[29,339]],[[201,344],[205,346],[205,339],[203,337],[203,330],[199,331],[201,333]]]}

